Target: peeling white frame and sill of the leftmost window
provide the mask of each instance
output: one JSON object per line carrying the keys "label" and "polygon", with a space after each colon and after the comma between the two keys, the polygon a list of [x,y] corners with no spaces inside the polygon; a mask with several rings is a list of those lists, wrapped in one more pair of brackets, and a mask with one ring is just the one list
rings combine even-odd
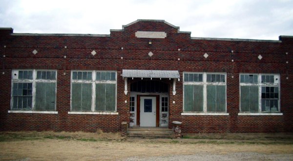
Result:
{"label": "peeling white frame and sill of the leftmost window", "polygon": [[[19,71],[32,71],[33,79],[18,79]],[[37,80],[37,72],[38,71],[53,71],[56,72],[55,80]],[[16,74],[16,75],[15,75]],[[55,110],[54,111],[36,111],[35,110],[35,100],[36,100],[36,82],[53,82],[55,83]],[[32,110],[12,110],[13,109],[13,83],[32,83]],[[58,114],[56,111],[57,105],[57,70],[43,70],[43,69],[13,69],[12,77],[11,77],[11,97],[10,97],[10,109],[8,113],[35,113],[35,114]]]}

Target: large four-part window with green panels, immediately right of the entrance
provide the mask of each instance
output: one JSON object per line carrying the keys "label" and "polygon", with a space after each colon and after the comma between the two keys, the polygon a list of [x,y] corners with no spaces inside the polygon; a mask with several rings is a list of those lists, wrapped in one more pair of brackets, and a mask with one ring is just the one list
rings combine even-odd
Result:
{"label": "large four-part window with green panels, immediately right of the entrance", "polygon": [[226,112],[226,74],[184,73],[184,112]]}

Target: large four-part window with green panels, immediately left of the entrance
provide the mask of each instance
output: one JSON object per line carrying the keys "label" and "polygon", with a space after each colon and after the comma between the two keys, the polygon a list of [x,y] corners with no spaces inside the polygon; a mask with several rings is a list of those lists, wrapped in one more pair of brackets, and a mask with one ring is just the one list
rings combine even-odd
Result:
{"label": "large four-part window with green panels, immediately left of the entrance", "polygon": [[72,71],[71,111],[116,111],[116,72]]}

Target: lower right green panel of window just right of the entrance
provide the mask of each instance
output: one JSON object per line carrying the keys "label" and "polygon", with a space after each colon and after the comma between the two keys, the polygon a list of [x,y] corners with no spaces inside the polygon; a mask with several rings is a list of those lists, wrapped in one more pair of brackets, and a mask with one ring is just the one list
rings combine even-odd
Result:
{"label": "lower right green panel of window just right of the entrance", "polygon": [[207,86],[207,111],[225,112],[226,111],[226,89],[223,85]]}

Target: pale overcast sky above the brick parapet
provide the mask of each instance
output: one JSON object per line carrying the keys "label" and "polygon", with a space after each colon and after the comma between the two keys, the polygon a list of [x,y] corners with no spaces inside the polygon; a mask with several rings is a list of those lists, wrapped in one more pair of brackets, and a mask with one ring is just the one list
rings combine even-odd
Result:
{"label": "pale overcast sky above the brick parapet", "polygon": [[137,19],[166,20],[192,37],[293,36],[293,0],[0,0],[14,33],[109,34]]}

